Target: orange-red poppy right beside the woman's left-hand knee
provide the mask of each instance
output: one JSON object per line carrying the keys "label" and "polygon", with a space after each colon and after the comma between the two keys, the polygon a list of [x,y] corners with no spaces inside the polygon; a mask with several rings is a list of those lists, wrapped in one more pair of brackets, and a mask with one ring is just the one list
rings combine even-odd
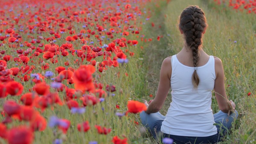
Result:
{"label": "orange-red poppy right beside the woman's left-hand knee", "polygon": [[127,112],[134,113],[134,114],[139,113],[143,110],[147,110],[147,107],[144,103],[136,101],[136,100],[128,101],[127,107],[128,107]]}

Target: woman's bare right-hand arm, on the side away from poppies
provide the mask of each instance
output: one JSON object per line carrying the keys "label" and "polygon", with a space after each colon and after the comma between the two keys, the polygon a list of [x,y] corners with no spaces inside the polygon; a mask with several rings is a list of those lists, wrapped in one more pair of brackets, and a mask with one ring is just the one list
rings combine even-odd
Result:
{"label": "woman's bare right-hand arm, on the side away from poppies", "polygon": [[225,85],[224,85],[224,68],[222,65],[222,61],[214,57],[215,60],[215,74],[216,79],[214,83],[214,91],[215,91],[215,97],[217,99],[219,108],[222,112],[228,113],[233,109],[231,102],[228,100],[226,91],[225,91]]}

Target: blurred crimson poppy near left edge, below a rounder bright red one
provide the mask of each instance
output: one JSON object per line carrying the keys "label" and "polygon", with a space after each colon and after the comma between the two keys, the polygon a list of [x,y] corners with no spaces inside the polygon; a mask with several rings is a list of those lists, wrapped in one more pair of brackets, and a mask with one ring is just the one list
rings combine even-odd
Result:
{"label": "blurred crimson poppy near left edge, below a rounder bright red one", "polygon": [[14,114],[19,114],[20,113],[20,105],[17,104],[15,101],[13,100],[7,100],[4,102],[4,112],[8,115],[8,116],[12,116]]}

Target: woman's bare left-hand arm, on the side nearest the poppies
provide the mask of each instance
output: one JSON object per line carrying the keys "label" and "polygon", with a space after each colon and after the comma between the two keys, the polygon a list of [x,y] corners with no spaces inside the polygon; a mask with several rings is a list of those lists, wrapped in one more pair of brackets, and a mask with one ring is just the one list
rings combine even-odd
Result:
{"label": "woman's bare left-hand arm, on the side nearest the poppies", "polygon": [[158,112],[164,105],[164,101],[167,97],[167,94],[170,90],[170,78],[172,75],[172,66],[171,66],[171,58],[165,58],[160,71],[160,81],[158,84],[158,89],[156,92],[155,99],[150,102],[148,109],[146,110],[147,114]]}

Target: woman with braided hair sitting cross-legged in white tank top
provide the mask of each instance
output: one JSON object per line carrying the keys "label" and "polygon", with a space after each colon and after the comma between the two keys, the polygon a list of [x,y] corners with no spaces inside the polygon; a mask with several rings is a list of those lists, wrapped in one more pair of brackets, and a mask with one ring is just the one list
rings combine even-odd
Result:
{"label": "woman with braided hair sitting cross-legged in white tank top", "polygon": [[[219,58],[201,48],[207,22],[198,6],[189,6],[180,14],[180,33],[185,39],[182,50],[164,59],[156,97],[147,101],[140,113],[142,124],[156,139],[170,137],[176,143],[216,143],[237,118],[235,103],[228,100],[224,69]],[[172,102],[166,116],[158,111],[172,89]],[[212,114],[212,90],[220,111]]]}

